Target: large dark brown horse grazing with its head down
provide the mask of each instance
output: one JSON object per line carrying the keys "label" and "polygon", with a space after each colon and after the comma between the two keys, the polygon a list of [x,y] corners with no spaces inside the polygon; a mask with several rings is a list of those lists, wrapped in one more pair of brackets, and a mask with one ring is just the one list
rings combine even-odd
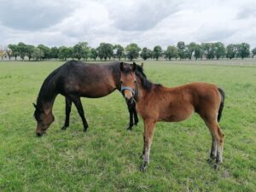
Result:
{"label": "large dark brown horse grazing with its head down", "polygon": [[[66,120],[62,130],[66,130],[69,126],[69,115],[73,102],[83,121],[84,131],[87,131],[88,124],[84,117],[80,97],[98,98],[108,96],[113,90],[121,90],[119,80],[118,61],[108,64],[85,64],[81,61],[67,61],[61,67],[55,69],[44,80],[38,94],[37,104],[34,104],[36,108],[34,117],[38,122],[36,130],[38,137],[43,135],[55,119],[52,108],[58,94],[66,98]],[[127,103],[127,105],[130,113],[130,125],[127,129],[131,130],[132,125],[137,125],[137,112],[135,102]]]}

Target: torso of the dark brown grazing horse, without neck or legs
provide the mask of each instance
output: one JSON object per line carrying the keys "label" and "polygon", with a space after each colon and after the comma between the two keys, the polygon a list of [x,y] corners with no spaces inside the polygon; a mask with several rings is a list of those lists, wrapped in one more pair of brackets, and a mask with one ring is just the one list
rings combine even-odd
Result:
{"label": "torso of the dark brown grazing horse, without neck or legs", "polygon": [[114,65],[115,63],[95,64],[67,61],[58,74],[61,94],[93,98],[107,96],[116,89]]}

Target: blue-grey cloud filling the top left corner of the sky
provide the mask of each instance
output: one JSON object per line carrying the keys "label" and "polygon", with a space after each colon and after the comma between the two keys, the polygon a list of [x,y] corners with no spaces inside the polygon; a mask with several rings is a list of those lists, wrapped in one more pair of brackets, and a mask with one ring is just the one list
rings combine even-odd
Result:
{"label": "blue-grey cloud filling the top left corner of the sky", "polygon": [[0,23],[18,30],[38,30],[54,25],[73,9],[73,5],[65,0],[9,0],[1,3]]}

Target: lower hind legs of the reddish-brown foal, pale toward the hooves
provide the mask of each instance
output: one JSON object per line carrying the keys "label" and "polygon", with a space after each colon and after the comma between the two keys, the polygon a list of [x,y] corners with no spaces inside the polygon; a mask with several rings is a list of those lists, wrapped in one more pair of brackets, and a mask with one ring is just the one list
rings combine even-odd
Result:
{"label": "lower hind legs of the reddish-brown foal, pale toward the hooves", "polygon": [[[215,155],[216,152],[216,164],[214,166],[215,169],[218,169],[219,164],[223,161],[223,147],[224,147],[224,134],[222,133],[220,126],[218,125],[217,120],[212,120],[207,122],[207,126],[211,131],[212,137],[214,137],[215,141],[212,139],[212,151],[210,157]],[[215,144],[216,143],[216,144]],[[215,149],[217,148],[217,149]]]}

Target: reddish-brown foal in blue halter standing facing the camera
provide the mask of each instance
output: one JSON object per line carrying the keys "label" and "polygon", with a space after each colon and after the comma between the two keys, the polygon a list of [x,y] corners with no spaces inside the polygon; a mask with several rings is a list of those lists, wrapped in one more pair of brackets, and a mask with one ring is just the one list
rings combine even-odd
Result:
{"label": "reddish-brown foal in blue halter standing facing the camera", "polygon": [[224,91],[214,84],[191,83],[167,88],[147,80],[143,67],[133,63],[132,66],[120,63],[123,95],[127,101],[135,100],[137,113],[143,118],[144,171],[149,163],[150,146],[154,127],[158,121],[178,122],[188,119],[193,113],[201,116],[212,135],[211,162],[216,158],[214,168],[222,163],[224,134],[218,121],[224,108]]}

